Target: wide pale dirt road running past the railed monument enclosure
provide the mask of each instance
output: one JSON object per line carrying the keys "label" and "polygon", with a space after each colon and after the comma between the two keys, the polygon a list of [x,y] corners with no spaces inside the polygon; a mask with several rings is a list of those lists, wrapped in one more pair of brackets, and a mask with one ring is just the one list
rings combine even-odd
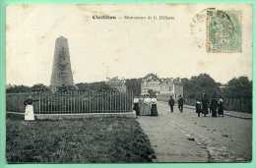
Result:
{"label": "wide pale dirt road running past the railed monument enclosure", "polygon": [[236,161],[251,158],[251,121],[198,118],[191,109],[170,113],[158,103],[159,116],[138,117],[156,151],[156,162]]}

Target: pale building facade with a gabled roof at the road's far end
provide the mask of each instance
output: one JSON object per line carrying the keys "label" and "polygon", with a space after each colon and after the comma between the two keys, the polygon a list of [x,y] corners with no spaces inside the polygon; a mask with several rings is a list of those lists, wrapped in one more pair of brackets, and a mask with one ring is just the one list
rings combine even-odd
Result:
{"label": "pale building facade with a gabled roof at the road's far end", "polygon": [[153,90],[157,95],[173,95],[177,98],[178,95],[183,96],[183,84],[178,79],[160,79],[156,74],[148,74],[142,79],[141,94],[149,94],[149,90]]}

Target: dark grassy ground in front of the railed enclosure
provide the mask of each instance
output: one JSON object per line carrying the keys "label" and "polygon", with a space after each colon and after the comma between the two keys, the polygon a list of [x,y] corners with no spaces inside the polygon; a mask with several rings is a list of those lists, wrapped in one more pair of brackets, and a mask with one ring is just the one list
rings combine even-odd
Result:
{"label": "dark grassy ground in front of the railed enclosure", "polygon": [[25,122],[9,116],[6,124],[9,163],[151,162],[155,158],[135,119]]}

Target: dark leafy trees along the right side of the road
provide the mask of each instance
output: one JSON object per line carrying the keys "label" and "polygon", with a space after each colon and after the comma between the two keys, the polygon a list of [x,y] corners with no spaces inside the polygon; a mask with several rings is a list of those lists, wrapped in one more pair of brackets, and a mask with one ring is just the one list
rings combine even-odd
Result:
{"label": "dark leafy trees along the right side of the road", "polygon": [[252,98],[252,81],[247,77],[233,78],[226,84],[215,82],[208,74],[200,74],[190,79],[181,79],[184,96],[187,98],[200,98],[202,93],[208,96],[224,98]]}

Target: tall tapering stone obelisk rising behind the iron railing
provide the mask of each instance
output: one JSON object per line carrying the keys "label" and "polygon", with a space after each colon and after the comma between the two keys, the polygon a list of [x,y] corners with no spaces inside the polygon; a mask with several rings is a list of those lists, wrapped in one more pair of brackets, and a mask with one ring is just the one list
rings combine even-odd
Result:
{"label": "tall tapering stone obelisk rising behind the iron railing", "polygon": [[50,89],[54,92],[61,85],[74,85],[68,39],[63,36],[58,37],[55,41]]}

